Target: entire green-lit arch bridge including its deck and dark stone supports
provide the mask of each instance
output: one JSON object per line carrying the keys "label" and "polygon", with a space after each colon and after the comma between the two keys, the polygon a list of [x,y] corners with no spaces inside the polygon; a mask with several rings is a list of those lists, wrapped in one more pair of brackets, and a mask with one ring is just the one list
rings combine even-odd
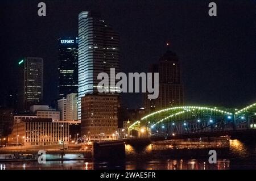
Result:
{"label": "entire green-lit arch bridge including its deck and dark stone supports", "polygon": [[[129,126],[129,131],[131,137],[124,140],[95,143],[94,157],[109,158],[113,155],[112,158],[116,158],[117,154],[118,157],[125,157],[129,148],[141,153],[140,151],[148,146],[157,150],[153,151],[153,154],[161,150],[175,151],[176,149],[172,149],[172,146],[186,141],[186,144],[194,142],[197,144],[196,148],[200,148],[201,141],[207,140],[211,149],[226,148],[222,143],[224,140],[228,141],[229,138],[254,141],[256,138],[256,103],[241,110],[200,106],[170,107],[152,112],[142,117],[141,120],[135,121]],[[214,140],[221,141],[214,146]],[[226,142],[227,145],[229,146],[229,142]],[[205,142],[201,146],[203,150],[209,149],[205,148]],[[208,154],[208,151],[205,153]],[[197,153],[199,152],[195,152]]]}

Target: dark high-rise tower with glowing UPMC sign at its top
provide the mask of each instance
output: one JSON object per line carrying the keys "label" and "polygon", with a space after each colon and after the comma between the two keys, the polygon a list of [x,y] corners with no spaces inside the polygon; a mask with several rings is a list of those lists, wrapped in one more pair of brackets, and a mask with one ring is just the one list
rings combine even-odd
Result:
{"label": "dark high-rise tower with glowing UPMC sign at its top", "polygon": [[78,90],[78,38],[59,39],[59,98]]}

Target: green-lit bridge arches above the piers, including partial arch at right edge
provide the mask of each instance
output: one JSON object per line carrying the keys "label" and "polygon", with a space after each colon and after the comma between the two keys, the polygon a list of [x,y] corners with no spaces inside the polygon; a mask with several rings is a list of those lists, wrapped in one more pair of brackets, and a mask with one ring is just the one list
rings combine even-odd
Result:
{"label": "green-lit bridge arches above the piers, including partial arch at right edge", "polygon": [[129,127],[137,137],[177,136],[256,130],[256,103],[241,110],[180,106],[152,112]]}

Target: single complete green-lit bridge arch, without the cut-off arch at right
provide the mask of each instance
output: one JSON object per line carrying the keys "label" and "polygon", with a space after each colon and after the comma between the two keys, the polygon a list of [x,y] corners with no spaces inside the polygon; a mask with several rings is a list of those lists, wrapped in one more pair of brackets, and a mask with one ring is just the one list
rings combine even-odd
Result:
{"label": "single complete green-lit bridge arch, without the cut-off arch at right", "polygon": [[192,134],[234,129],[234,113],[216,107],[182,106],[153,112],[131,125],[152,136]]}

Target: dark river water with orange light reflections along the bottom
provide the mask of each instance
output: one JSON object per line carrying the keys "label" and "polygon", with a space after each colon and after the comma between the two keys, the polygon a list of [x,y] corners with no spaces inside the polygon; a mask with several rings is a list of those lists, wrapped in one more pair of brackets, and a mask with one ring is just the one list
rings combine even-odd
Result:
{"label": "dark river water with orange light reflections along the bottom", "polygon": [[230,140],[228,154],[217,157],[216,164],[210,164],[207,158],[148,158],[140,155],[139,158],[127,158],[115,162],[96,162],[88,160],[73,161],[47,161],[39,164],[35,161],[1,162],[1,170],[101,170],[101,169],[126,169],[126,170],[232,170],[232,169],[256,169],[256,146],[254,141],[246,142]]}

